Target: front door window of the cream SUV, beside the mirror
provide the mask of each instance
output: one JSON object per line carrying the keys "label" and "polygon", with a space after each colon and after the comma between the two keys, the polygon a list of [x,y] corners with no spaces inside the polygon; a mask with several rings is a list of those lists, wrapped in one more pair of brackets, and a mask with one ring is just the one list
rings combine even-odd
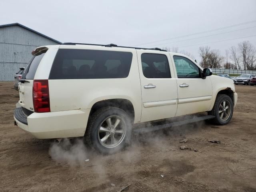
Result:
{"label": "front door window of the cream SUV, beside the mirror", "polygon": [[173,56],[178,78],[200,78],[199,68],[189,59]]}

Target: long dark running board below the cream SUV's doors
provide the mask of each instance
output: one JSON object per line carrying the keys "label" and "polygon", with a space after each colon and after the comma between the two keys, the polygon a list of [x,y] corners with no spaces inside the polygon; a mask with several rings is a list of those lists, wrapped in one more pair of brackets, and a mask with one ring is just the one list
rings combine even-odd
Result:
{"label": "long dark running board below the cream SUV's doors", "polygon": [[203,120],[213,119],[213,118],[215,118],[215,116],[206,115],[206,116],[196,117],[196,118],[187,119],[187,120],[183,120],[183,121],[171,122],[171,123],[167,123],[167,124],[163,124],[163,125],[139,128],[139,129],[134,130],[133,132],[136,135],[136,134],[152,132],[152,131],[156,131],[156,130],[160,130],[160,129],[171,128],[173,126],[180,126],[180,125],[199,122],[199,121],[203,121]]}

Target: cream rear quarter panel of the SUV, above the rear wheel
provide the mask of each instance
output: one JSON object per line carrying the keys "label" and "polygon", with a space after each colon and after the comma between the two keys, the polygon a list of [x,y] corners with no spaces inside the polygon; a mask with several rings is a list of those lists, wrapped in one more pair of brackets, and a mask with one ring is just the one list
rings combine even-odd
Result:
{"label": "cream rear quarter panel of the SUV, above the rear wheel", "polygon": [[98,101],[120,98],[132,103],[134,122],[140,122],[142,102],[136,52],[130,49],[122,51],[133,54],[127,78],[48,80],[51,112],[90,109]]}

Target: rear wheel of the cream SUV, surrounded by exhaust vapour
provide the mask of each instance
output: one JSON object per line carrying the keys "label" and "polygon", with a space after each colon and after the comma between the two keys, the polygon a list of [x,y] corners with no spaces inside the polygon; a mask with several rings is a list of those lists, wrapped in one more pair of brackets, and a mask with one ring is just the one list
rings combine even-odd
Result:
{"label": "rear wheel of the cream SUV, surrounded by exhaust vapour", "polygon": [[113,154],[130,141],[132,124],[124,110],[104,107],[90,118],[86,129],[86,142],[103,154]]}

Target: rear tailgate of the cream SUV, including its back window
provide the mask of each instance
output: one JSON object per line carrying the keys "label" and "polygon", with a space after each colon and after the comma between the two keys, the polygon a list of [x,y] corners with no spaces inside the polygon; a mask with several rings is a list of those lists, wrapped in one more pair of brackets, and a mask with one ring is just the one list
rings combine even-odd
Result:
{"label": "rear tailgate of the cream SUV, including its back window", "polygon": [[32,98],[34,76],[36,74],[36,70],[38,68],[39,63],[42,60],[47,50],[48,49],[45,47],[44,49],[39,50],[34,54],[32,60],[24,69],[24,72],[20,80],[19,104],[30,111],[34,111],[33,98]]}

